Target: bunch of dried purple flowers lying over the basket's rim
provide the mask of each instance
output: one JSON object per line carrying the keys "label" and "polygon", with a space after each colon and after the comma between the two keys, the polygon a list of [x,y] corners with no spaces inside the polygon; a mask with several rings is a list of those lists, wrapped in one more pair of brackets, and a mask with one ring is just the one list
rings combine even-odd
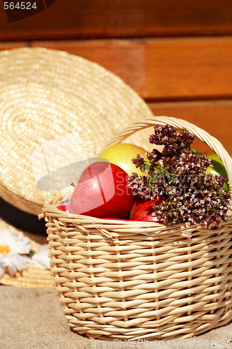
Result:
{"label": "bunch of dried purple flowers lying over the basket's rim", "polygon": [[221,225],[229,216],[229,193],[223,188],[226,179],[206,173],[212,163],[190,149],[194,135],[189,131],[179,133],[169,125],[156,125],[154,131],[149,142],[163,149],[154,148],[146,154],[148,161],[140,155],[132,159],[144,172],[140,177],[133,173],[128,180],[133,195],[144,200],[161,199],[162,205],[153,206],[153,216],[166,225]]}

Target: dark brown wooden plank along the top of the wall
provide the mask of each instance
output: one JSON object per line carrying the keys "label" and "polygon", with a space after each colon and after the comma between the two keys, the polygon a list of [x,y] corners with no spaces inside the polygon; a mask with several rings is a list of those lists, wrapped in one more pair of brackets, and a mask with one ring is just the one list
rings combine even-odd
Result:
{"label": "dark brown wooden plank along the top of the wall", "polygon": [[231,0],[56,0],[8,23],[0,3],[0,40],[232,34]]}

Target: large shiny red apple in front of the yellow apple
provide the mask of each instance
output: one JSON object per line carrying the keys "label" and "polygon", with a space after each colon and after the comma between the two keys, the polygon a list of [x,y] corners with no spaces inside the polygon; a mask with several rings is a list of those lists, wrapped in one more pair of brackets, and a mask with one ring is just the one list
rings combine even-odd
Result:
{"label": "large shiny red apple in front of the yellow apple", "polygon": [[92,163],[82,172],[69,202],[71,214],[125,218],[134,202],[127,173],[113,163]]}

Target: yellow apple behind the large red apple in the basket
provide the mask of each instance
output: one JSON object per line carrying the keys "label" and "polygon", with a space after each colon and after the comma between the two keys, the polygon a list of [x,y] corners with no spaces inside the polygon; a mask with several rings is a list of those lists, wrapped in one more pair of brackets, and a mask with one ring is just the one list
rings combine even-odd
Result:
{"label": "yellow apple behind the large red apple in the basket", "polygon": [[110,163],[118,165],[129,175],[132,172],[142,175],[143,172],[132,163],[132,158],[136,158],[137,154],[145,156],[146,152],[144,148],[138,147],[135,144],[118,143],[102,151],[98,157],[106,158]]}

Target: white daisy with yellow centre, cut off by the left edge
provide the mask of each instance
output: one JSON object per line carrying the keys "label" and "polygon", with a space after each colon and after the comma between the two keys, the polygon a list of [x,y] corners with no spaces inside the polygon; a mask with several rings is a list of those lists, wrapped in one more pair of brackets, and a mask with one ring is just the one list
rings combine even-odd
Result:
{"label": "white daisy with yellow centre, cut off by the left edge", "polygon": [[0,277],[6,271],[13,276],[26,269],[26,263],[31,262],[26,256],[30,251],[30,240],[22,232],[15,233],[9,228],[0,231]]}

